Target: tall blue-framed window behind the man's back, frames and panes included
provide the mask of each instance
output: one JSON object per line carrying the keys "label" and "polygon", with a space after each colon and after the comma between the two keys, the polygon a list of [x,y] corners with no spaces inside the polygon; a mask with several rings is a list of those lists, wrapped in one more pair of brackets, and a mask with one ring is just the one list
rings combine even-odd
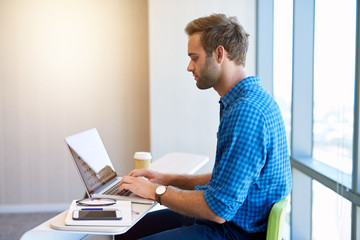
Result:
{"label": "tall blue-framed window behind the man's back, frames and panes included", "polygon": [[358,2],[257,1],[258,68],[272,79],[267,86],[290,139],[291,231],[284,239],[360,239]]}

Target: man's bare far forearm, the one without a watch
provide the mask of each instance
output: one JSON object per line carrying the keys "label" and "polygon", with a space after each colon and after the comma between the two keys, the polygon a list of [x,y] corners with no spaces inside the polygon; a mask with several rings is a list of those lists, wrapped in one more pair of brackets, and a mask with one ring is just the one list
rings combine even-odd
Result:
{"label": "man's bare far forearm, the one without a watch", "polygon": [[166,185],[174,186],[185,190],[194,190],[197,185],[205,185],[209,182],[211,174],[201,175],[177,175],[166,174]]}

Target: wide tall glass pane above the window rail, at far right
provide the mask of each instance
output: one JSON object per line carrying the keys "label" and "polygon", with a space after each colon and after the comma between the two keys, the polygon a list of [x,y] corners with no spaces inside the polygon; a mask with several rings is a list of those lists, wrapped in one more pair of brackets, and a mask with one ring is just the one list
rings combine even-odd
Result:
{"label": "wide tall glass pane above the window rail, at far right", "polygon": [[315,1],[313,157],[352,173],[356,1]]}

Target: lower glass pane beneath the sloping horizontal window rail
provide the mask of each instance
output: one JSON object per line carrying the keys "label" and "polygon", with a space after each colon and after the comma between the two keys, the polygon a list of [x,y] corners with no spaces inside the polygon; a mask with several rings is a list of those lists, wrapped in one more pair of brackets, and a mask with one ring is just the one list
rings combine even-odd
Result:
{"label": "lower glass pane beneath the sloping horizontal window rail", "polygon": [[351,202],[313,180],[312,239],[351,239]]}

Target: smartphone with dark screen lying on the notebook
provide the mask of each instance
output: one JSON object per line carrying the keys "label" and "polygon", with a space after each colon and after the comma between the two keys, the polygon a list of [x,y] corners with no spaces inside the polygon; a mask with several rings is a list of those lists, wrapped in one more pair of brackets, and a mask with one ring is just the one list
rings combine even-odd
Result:
{"label": "smartphone with dark screen lying on the notebook", "polygon": [[121,211],[115,210],[75,210],[74,220],[120,220]]}

